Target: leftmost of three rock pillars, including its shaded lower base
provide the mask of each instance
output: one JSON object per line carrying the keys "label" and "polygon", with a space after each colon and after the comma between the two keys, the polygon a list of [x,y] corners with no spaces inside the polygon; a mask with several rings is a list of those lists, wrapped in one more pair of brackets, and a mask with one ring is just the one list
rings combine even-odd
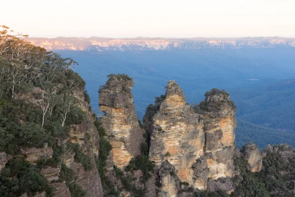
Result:
{"label": "leftmost of three rock pillars, including its shaded lower base", "polygon": [[[141,144],[144,142],[144,130],[140,128],[131,93],[133,84],[132,78],[127,75],[112,74],[109,75],[106,85],[99,90],[99,109],[105,113],[100,122],[112,145],[105,166],[106,176],[114,187],[121,189],[120,195],[127,197],[133,194],[130,188],[124,189],[122,177],[132,179],[136,190],[144,191],[145,187],[140,181],[143,175],[141,170],[135,170],[133,173],[124,170],[133,158],[141,154]],[[119,176],[118,171],[121,171]]]}

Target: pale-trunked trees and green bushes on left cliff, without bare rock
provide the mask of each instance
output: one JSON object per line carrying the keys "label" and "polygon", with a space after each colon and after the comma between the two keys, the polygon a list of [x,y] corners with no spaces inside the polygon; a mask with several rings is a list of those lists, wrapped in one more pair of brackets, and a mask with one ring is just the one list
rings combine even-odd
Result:
{"label": "pale-trunked trees and green bushes on left cliff, without bare rock", "polygon": [[[66,138],[69,126],[86,118],[74,97],[84,91],[85,81],[71,69],[77,65],[74,60],[30,44],[28,35],[10,33],[0,27],[0,151],[13,156],[0,174],[0,188],[6,196],[44,190],[50,196],[46,179],[20,159],[20,149],[47,144],[54,156],[42,158],[37,167],[60,164],[58,138]],[[75,160],[89,169],[84,156],[78,154]]]}

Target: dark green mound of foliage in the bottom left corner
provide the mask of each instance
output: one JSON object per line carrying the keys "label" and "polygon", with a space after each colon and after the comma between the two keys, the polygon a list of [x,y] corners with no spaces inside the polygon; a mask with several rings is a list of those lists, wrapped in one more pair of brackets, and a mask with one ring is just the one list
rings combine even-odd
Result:
{"label": "dark green mound of foliage in the bottom left corner", "polygon": [[17,197],[27,193],[47,191],[51,196],[47,180],[39,169],[29,164],[23,157],[14,157],[8,161],[0,173],[0,196]]}

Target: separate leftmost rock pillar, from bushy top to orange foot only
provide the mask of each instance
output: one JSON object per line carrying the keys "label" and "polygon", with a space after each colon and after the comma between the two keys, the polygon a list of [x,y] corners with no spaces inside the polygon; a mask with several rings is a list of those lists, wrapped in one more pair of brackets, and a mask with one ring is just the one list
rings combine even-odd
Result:
{"label": "separate leftmost rock pillar, from bushy top to orange foot only", "polygon": [[99,94],[99,109],[106,114],[101,122],[113,147],[109,160],[121,169],[140,155],[143,142],[144,131],[139,126],[131,93],[133,84],[126,75],[111,75]]}

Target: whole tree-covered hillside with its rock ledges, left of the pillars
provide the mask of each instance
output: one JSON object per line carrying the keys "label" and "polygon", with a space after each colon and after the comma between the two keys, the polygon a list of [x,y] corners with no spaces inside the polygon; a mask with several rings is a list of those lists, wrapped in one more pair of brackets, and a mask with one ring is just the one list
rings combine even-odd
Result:
{"label": "whole tree-covered hillside with its rock ledges, left of the pillars", "polygon": [[74,60],[30,44],[27,36],[1,26],[0,196],[46,192],[51,197],[56,191],[53,185],[63,182],[72,197],[85,196],[75,169],[69,168],[73,163],[64,164],[66,155],[72,154],[85,171],[95,165],[87,148],[92,133],[82,133],[83,139],[69,138],[72,125],[82,124],[87,130],[89,114],[92,120],[91,108],[84,107],[90,102],[85,82],[71,69],[77,65]]}

